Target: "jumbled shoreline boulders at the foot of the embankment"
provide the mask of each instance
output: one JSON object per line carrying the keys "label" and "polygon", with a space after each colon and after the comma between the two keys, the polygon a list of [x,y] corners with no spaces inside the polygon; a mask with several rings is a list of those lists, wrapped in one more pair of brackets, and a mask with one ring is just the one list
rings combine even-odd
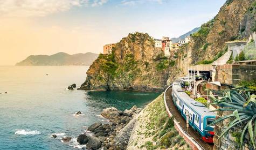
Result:
{"label": "jumbled shoreline boulders at the foot of the embankment", "polygon": [[86,144],[86,149],[126,149],[135,118],[141,110],[136,106],[124,111],[114,107],[103,109],[101,115],[109,119],[110,123],[92,124],[86,133],[78,136],[77,141],[80,145]]}

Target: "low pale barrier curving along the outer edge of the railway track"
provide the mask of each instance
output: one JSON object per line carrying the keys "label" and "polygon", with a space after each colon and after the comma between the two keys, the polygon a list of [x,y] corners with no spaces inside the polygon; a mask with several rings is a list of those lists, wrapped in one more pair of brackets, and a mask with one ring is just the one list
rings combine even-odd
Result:
{"label": "low pale barrier curving along the outer edge of the railway track", "polygon": [[[171,112],[170,112],[170,110],[169,110],[169,108],[168,108],[168,106],[167,106],[167,102],[166,102],[165,96],[166,96],[167,90],[168,90],[170,87],[172,87],[172,85],[170,85],[169,87],[167,87],[167,88],[165,89],[165,91],[164,91],[164,105],[165,105],[165,109],[166,109],[166,111],[167,111],[169,117],[171,117],[172,114],[171,114]],[[176,121],[175,118],[174,118],[174,124],[175,124],[176,130],[178,130],[178,132],[179,132],[180,134],[182,134],[181,136],[184,138],[184,140],[185,140],[186,142],[188,142],[189,144],[192,144],[192,145],[190,145],[190,147],[192,147],[192,148],[195,149],[195,150],[197,150],[197,149],[198,149],[198,150],[205,150],[205,149],[203,148],[203,146],[201,146],[195,139],[193,139],[191,136],[189,136],[189,133],[188,133],[188,132],[186,132],[184,129],[182,129],[181,125],[179,125],[179,123]]]}

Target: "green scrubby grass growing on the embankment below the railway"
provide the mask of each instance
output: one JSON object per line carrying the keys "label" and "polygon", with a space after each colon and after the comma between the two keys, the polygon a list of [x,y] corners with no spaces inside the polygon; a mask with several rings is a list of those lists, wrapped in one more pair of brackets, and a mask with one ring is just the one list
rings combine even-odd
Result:
{"label": "green scrubby grass growing on the embankment below the railway", "polygon": [[137,135],[142,138],[140,140],[147,139],[147,141],[143,144],[137,143],[137,149],[165,149],[174,145],[184,145],[183,138],[174,128],[174,120],[169,118],[165,111],[163,95],[158,96],[155,102],[150,103],[143,113],[147,115],[139,118],[143,125],[140,125]]}

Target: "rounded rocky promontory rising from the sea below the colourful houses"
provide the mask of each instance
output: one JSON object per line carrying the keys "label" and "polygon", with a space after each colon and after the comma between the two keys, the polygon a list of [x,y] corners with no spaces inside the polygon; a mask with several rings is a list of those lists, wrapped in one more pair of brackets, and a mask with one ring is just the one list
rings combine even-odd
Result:
{"label": "rounded rocky promontory rising from the sea below the colourful houses", "polygon": [[148,34],[136,32],[116,43],[112,54],[93,62],[80,89],[162,91],[174,63]]}

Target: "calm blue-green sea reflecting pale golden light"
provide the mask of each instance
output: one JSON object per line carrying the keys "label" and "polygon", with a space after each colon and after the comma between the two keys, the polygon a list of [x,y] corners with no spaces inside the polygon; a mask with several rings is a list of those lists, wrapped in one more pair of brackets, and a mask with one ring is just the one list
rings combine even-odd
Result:
{"label": "calm blue-green sea reflecting pale golden light", "polygon": [[[160,93],[66,91],[87,66],[0,66],[0,149],[79,149],[76,138],[103,108],[143,107]],[[46,76],[49,74],[49,76]],[[74,116],[82,111],[81,116]],[[55,133],[58,138],[51,138]],[[71,142],[61,137],[71,136]]]}

